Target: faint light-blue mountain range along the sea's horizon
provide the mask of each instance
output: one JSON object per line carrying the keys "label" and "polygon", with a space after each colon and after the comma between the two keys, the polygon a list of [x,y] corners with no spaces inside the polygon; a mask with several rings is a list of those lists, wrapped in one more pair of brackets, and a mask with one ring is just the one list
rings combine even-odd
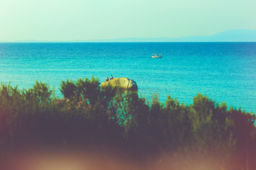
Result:
{"label": "faint light-blue mountain range along the sea's horizon", "polygon": [[[9,42],[9,41],[0,41]],[[210,36],[185,36],[181,38],[114,38],[101,40],[72,40],[72,41],[38,41],[24,40],[14,42],[256,42],[256,30],[234,29],[222,31]]]}

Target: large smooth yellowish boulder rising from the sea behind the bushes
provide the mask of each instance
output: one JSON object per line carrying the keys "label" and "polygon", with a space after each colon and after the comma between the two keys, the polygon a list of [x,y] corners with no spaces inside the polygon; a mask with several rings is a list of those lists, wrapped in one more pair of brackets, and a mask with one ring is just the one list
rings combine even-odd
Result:
{"label": "large smooth yellowish boulder rising from the sea behind the bushes", "polygon": [[138,90],[136,82],[127,79],[126,77],[114,78],[108,82],[103,82],[100,85],[101,88],[105,86],[119,87],[127,90]]}

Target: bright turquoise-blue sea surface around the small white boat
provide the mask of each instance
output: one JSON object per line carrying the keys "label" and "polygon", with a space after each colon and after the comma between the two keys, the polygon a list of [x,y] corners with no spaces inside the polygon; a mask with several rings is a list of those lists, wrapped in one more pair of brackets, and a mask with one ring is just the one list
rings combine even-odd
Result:
{"label": "bright turquoise-blue sea surface around the small white boat", "polygon": [[157,93],[192,104],[201,93],[256,113],[256,42],[0,43],[0,82],[19,89],[41,80],[62,97],[61,81],[111,74],[136,81],[149,101]]}

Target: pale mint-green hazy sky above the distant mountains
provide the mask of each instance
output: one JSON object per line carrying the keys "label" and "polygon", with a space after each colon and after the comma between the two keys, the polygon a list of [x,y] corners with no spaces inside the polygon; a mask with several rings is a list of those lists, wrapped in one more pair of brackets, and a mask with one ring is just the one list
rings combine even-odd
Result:
{"label": "pale mint-green hazy sky above the distant mountains", "polygon": [[0,0],[0,41],[212,35],[256,30],[256,0]]}

